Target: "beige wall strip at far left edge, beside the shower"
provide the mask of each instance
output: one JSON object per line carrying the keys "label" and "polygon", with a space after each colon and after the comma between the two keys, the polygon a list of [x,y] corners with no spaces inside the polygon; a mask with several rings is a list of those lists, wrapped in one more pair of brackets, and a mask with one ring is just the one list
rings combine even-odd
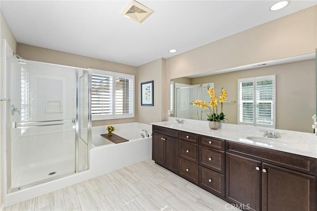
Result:
{"label": "beige wall strip at far left edge, beside the shower", "polygon": [[[0,35],[1,35],[1,40],[0,40],[0,76],[2,78],[2,64],[3,64],[3,61],[2,61],[2,39],[6,39],[8,44],[11,46],[12,50],[14,52],[16,52],[16,40],[2,14],[2,11],[0,11]],[[1,82],[0,82],[1,83]],[[2,90],[1,90],[1,87],[2,87],[2,84],[0,84],[0,93],[2,94]],[[1,95],[0,94],[0,95]],[[1,96],[2,97],[2,96]],[[0,111],[2,111],[2,106],[4,105],[4,103],[9,103],[9,102],[6,102],[6,101],[2,101],[0,102]],[[0,112],[0,120],[3,120],[3,116],[2,116],[2,112]],[[0,121],[0,207],[2,206],[3,204],[3,173],[4,171],[2,171],[2,157],[3,157],[3,143],[5,140],[2,140],[2,134],[4,132],[4,129],[5,129],[5,126],[2,125],[2,121]]]}

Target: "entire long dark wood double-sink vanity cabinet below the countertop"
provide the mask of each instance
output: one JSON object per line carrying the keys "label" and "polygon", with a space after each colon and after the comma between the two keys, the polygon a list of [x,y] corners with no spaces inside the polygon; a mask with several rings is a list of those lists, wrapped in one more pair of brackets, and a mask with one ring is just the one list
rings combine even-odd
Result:
{"label": "entire long dark wood double-sink vanity cabinet below the countertop", "polygon": [[317,211],[317,159],[153,126],[152,159],[248,211]]}

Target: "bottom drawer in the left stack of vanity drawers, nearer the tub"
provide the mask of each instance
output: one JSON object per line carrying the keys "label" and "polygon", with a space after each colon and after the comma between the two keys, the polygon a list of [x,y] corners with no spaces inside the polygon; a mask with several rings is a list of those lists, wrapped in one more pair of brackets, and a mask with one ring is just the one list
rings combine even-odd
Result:
{"label": "bottom drawer in the left stack of vanity drawers, nearer the tub", "polygon": [[198,184],[198,164],[179,158],[179,175]]}

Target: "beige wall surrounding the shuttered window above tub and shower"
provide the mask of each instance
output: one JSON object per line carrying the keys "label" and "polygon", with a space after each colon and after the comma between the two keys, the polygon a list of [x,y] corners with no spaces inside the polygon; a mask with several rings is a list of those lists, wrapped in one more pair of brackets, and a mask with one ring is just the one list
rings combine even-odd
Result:
{"label": "beige wall surrounding the shuttered window above tub and shower", "polygon": [[[37,47],[28,44],[17,44],[17,54],[24,59],[48,62],[53,64],[67,65],[80,68],[95,68],[100,70],[108,70],[118,73],[127,73],[137,75],[137,68],[130,65],[110,62],[101,59],[95,59],[87,56],[81,56],[72,53],[52,50],[43,47]],[[137,78],[137,76],[136,76]],[[136,95],[137,97],[138,95]],[[93,126],[113,125],[120,123],[136,122],[137,117],[116,120],[93,121]]]}

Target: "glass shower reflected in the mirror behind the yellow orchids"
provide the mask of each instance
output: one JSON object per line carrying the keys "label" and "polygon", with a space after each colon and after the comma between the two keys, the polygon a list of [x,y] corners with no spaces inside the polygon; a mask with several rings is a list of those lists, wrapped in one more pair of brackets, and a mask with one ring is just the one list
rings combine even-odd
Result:
{"label": "glass shower reflected in the mirror behind the yellow orchids", "polygon": [[180,84],[175,83],[175,112],[174,116],[177,118],[185,118],[192,120],[207,120],[206,112],[209,110],[201,109],[197,106],[192,106],[190,103],[193,100],[210,101],[208,94],[208,85],[214,86],[213,83],[207,84]]}

